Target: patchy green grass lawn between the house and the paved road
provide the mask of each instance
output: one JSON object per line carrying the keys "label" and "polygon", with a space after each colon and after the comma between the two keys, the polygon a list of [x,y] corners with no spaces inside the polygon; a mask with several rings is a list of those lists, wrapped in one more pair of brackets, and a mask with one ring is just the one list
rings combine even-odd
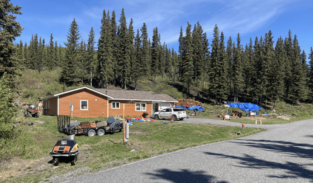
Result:
{"label": "patchy green grass lawn between the house and the paved road", "polygon": [[[105,120],[106,118],[77,118],[78,121]],[[160,121],[136,121],[130,126],[130,135],[126,143],[123,133],[103,136],[76,136],[80,146],[80,155],[75,166],[61,163],[59,166],[48,164],[52,147],[62,136],[57,131],[56,116],[39,116],[28,118],[34,125],[26,127],[33,139],[23,159],[14,158],[0,166],[0,182],[49,182],[51,177],[61,179],[65,173],[80,175],[84,172],[119,166],[198,145],[234,139],[264,131],[257,128],[174,123],[164,124]],[[27,121],[26,120],[26,121]],[[240,132],[241,135],[237,135]],[[76,173],[75,173],[76,172]],[[54,180],[57,181],[57,180]]]}

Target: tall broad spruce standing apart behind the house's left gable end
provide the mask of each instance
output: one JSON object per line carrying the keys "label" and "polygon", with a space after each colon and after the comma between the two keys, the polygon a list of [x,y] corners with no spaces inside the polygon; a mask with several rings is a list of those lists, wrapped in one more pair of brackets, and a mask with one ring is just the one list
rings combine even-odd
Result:
{"label": "tall broad spruce standing apart behind the house's left gable end", "polygon": [[75,18],[70,24],[69,32],[66,37],[67,42],[64,42],[66,49],[64,65],[62,67],[61,73],[61,83],[67,86],[74,86],[80,82],[77,60],[77,49],[79,48],[78,40],[80,39],[80,33]]}

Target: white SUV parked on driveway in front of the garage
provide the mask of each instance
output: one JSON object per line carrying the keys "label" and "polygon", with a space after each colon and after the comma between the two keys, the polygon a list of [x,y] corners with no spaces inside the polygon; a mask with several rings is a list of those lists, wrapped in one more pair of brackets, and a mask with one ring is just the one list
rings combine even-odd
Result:
{"label": "white SUV parked on driveway in front of the garage", "polygon": [[153,115],[154,119],[171,119],[173,117],[174,121],[177,119],[183,120],[187,117],[186,111],[183,108],[166,108],[161,111],[156,112]]}

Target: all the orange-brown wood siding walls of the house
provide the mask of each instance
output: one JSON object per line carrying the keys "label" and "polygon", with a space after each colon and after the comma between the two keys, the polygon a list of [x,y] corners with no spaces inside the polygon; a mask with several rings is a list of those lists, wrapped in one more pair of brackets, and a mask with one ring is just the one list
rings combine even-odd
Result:
{"label": "all the orange-brown wood siding walls of the house", "polygon": [[[81,110],[81,100],[88,101],[88,109]],[[47,107],[46,107],[47,102]],[[112,102],[119,102],[119,108],[112,108]],[[132,101],[128,100],[109,100],[107,97],[97,94],[88,89],[80,89],[77,91],[69,92],[59,95],[59,114],[71,116],[70,103],[72,103],[73,117],[114,117],[115,115],[123,116],[123,105],[125,104],[125,116],[140,117],[143,113],[152,115],[152,102],[148,101]],[[136,111],[136,103],[145,103],[145,111]],[[158,109],[158,103],[155,103]],[[173,107],[174,104],[171,104]],[[58,97],[43,100],[44,114],[58,115]],[[151,113],[152,112],[152,113]]]}

